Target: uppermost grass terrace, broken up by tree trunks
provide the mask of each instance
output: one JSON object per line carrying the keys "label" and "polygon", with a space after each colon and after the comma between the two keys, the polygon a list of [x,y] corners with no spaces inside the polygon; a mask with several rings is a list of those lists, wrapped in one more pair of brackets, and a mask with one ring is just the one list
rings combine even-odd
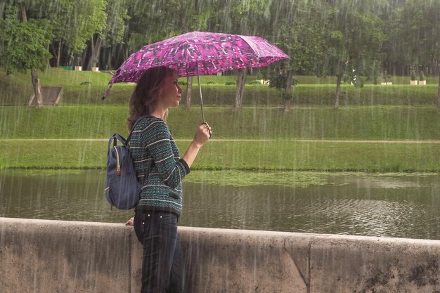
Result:
{"label": "uppermost grass terrace, broken up by tree trunks", "polygon": [[[50,69],[41,72],[43,86],[63,85],[60,105],[126,105],[134,89],[133,84],[115,84],[110,96],[101,100],[108,87],[110,74],[104,72],[75,72],[62,69]],[[202,92],[206,105],[233,105],[235,85],[226,86],[226,82],[234,82],[235,76],[207,76],[202,78]],[[247,82],[257,79],[249,76]],[[408,77],[395,77],[396,82],[403,82]],[[335,100],[335,82],[331,77],[297,77],[300,84],[293,90],[294,105],[300,106],[331,106]],[[185,81],[186,79],[181,79]],[[408,79],[409,80],[409,79]],[[438,81],[429,77],[427,86],[410,86],[408,82],[392,86],[366,84],[356,89],[349,84],[342,85],[342,106],[364,105],[436,105]],[[84,84],[86,83],[86,84]],[[81,85],[84,84],[84,85]],[[196,88],[197,82],[194,83]],[[186,100],[186,87],[183,101]],[[0,105],[25,105],[32,95],[30,74],[13,74],[6,76],[0,70]],[[193,105],[199,104],[198,91],[193,90]],[[281,105],[283,99],[280,91],[269,89],[265,85],[248,84],[245,89],[244,105]]]}

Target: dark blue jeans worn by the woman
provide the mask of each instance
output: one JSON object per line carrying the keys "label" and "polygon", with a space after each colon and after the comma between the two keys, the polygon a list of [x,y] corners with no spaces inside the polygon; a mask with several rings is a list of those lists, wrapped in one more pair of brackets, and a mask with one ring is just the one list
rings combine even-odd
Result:
{"label": "dark blue jeans worn by the woman", "polygon": [[172,212],[136,212],[134,230],[143,245],[141,293],[184,292],[178,216]]}

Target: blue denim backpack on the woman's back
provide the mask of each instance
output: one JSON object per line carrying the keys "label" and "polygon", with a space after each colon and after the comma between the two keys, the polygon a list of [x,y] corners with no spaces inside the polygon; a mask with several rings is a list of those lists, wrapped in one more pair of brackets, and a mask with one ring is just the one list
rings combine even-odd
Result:
{"label": "blue denim backpack on the woman's back", "polygon": [[[127,139],[119,134],[113,134],[108,141],[107,178],[105,179],[104,194],[111,207],[133,209],[139,202],[143,182],[139,182],[136,176],[129,142],[134,127],[145,117],[148,116],[143,116],[135,122]],[[121,145],[117,145],[117,141]],[[110,145],[112,145],[111,148]],[[147,177],[148,172],[143,177],[144,180]]]}

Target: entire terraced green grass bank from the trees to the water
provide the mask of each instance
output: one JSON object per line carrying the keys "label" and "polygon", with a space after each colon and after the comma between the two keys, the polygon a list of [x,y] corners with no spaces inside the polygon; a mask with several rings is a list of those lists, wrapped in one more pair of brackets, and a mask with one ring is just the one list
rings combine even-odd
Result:
{"label": "entire terraced green grass bank from the trees to the water", "polygon": [[[41,84],[63,84],[58,107],[37,110],[27,103],[30,74],[6,76],[0,70],[1,138],[108,138],[127,135],[125,119],[133,84],[117,84],[106,100],[110,74],[48,70]],[[248,77],[248,82],[257,77]],[[214,138],[273,139],[258,142],[211,141],[194,169],[271,169],[310,171],[440,171],[440,145],[434,143],[330,143],[318,140],[438,140],[440,112],[434,107],[438,87],[342,86],[342,108],[332,108],[332,79],[302,77],[294,89],[291,112],[280,105],[280,92],[263,85],[247,85],[245,108],[233,112],[233,76],[202,77],[205,118]],[[299,79],[299,77],[298,77]],[[401,82],[405,79],[402,77]],[[80,85],[86,82],[87,85]],[[399,83],[398,79],[393,81]],[[308,85],[313,84],[313,85]],[[196,84],[195,84],[196,85]],[[192,138],[200,123],[198,91],[193,109],[172,108],[168,124],[175,138]],[[185,97],[183,97],[185,100]],[[211,105],[211,106],[209,106]],[[216,105],[215,107],[212,105]],[[414,107],[418,105],[418,107]],[[180,141],[182,152],[188,146]],[[106,142],[0,141],[0,168],[104,168]]]}

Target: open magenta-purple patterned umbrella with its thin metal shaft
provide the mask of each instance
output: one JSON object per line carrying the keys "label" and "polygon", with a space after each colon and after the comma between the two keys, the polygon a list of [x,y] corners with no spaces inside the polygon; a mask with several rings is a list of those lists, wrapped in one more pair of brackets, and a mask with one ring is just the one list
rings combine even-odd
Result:
{"label": "open magenta-purple patterned umbrella with its thin metal shaft", "polygon": [[[110,87],[103,99],[110,93],[112,84],[138,82],[143,72],[150,67],[171,67],[177,70],[180,77],[188,77],[247,67],[264,67],[285,58],[289,56],[261,37],[188,32],[144,46],[131,54],[110,79]],[[201,90],[200,99],[203,107]],[[204,117],[203,121],[205,122]]]}

